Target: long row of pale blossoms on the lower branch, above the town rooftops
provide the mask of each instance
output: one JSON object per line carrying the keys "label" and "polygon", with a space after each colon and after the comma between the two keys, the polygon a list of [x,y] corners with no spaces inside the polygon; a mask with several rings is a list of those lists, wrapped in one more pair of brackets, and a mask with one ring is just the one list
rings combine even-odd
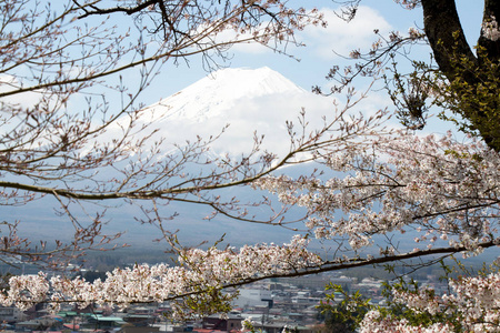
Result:
{"label": "long row of pale blossoms on the lower branch, above the town rooftops", "polygon": [[163,302],[320,264],[320,258],[306,250],[307,245],[306,239],[296,236],[289,244],[246,245],[239,251],[193,249],[180,255],[177,266],[142,264],[116,269],[107,273],[104,281],[98,279],[93,283],[81,278],[48,278],[43,273],[12,276],[0,295],[0,304],[29,309],[48,302],[57,310],[61,303],[84,307],[94,303],[127,306]]}

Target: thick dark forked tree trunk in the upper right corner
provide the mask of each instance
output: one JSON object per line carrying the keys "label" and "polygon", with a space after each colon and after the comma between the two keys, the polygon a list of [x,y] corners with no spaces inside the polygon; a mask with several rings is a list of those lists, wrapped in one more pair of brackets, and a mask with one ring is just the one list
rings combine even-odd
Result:
{"label": "thick dark forked tree trunk in the upper right corner", "polygon": [[[481,30],[478,46],[482,49],[483,57],[477,57],[463,34],[454,0],[421,0],[421,3],[424,31],[440,70],[448,80],[458,79],[467,83],[468,88],[472,87],[468,93],[474,89],[477,91],[482,89],[487,78],[483,73],[491,70],[491,63],[498,63],[500,39],[488,39]],[[483,21],[488,22],[496,18],[500,18],[500,1],[484,0]],[[464,62],[472,64],[472,70],[460,68]],[[497,78],[497,74],[493,73],[493,78]],[[498,95],[498,91],[491,91],[490,95]],[[500,152],[499,99],[479,101],[476,107],[473,103],[467,103],[467,105],[460,110],[461,115],[470,121],[472,128],[490,148]]]}

